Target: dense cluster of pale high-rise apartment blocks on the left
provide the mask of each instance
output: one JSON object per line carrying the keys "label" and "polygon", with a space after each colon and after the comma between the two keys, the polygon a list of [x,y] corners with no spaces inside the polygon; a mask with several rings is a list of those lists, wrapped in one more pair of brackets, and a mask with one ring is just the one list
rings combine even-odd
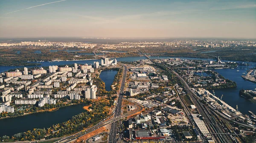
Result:
{"label": "dense cluster of pale high-rise apartment blocks on the left", "polygon": [[[93,66],[99,68],[99,62],[94,62]],[[91,73],[94,73],[93,66],[75,63],[74,67],[53,65],[49,66],[49,69],[41,67],[32,69],[31,72],[24,67],[23,72],[15,70],[1,73],[1,100],[11,103],[15,98],[14,104],[38,104],[38,107],[43,107],[44,104],[56,104],[55,98],[67,97],[70,100],[80,100],[82,95],[88,99],[96,99],[97,87],[93,85],[91,77]],[[39,79],[43,74],[44,79]],[[84,84],[89,85],[84,86]],[[57,94],[52,94],[52,90],[56,92],[57,89]],[[26,93],[20,93],[20,90]],[[9,105],[1,111],[13,111],[9,109]]]}

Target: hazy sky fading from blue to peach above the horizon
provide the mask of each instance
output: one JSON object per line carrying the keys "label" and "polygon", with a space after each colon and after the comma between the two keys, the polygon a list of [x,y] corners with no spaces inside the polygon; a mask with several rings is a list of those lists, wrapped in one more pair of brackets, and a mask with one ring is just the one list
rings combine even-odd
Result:
{"label": "hazy sky fading from blue to peach above the horizon", "polygon": [[256,39],[256,1],[0,0],[0,37]]}

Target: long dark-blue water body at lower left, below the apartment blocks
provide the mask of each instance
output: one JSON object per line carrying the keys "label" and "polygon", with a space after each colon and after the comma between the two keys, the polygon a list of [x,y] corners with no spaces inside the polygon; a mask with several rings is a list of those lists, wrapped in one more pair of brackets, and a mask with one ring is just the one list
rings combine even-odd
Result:
{"label": "long dark-blue water body at lower left, below the apartment blocks", "polygon": [[67,107],[62,107],[55,112],[41,112],[20,116],[16,118],[6,118],[0,120],[0,137],[3,135],[12,136],[20,132],[26,132],[34,128],[45,128],[53,124],[68,121],[73,116],[84,112],[83,107],[86,104],[77,104]]}

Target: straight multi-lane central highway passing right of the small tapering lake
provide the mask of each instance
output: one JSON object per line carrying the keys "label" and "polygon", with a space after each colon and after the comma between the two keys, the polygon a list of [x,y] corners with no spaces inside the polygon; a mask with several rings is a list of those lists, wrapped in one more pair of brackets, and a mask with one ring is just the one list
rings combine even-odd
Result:
{"label": "straight multi-lane central highway passing right of the small tapering lake", "polygon": [[[117,106],[116,106],[116,109],[115,109],[114,118],[116,118],[117,116],[120,116],[120,114],[121,114],[122,98],[123,98],[123,92],[124,92],[125,81],[126,81],[127,67],[125,66],[125,64],[121,64],[121,65],[124,67],[124,72],[123,72],[123,75],[122,75],[120,92],[118,93],[119,96],[118,96]],[[118,122],[117,121],[111,123],[108,143],[115,143],[116,142],[116,133],[118,131],[118,127],[117,126],[118,126]]]}

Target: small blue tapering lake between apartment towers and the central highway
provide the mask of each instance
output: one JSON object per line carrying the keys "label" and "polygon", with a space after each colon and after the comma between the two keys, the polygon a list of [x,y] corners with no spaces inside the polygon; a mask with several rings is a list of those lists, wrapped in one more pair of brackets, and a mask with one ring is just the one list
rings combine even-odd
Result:
{"label": "small blue tapering lake between apartment towers and the central highway", "polygon": [[116,76],[117,70],[103,70],[101,71],[99,77],[102,79],[102,81],[105,82],[105,89],[107,91],[111,91],[111,85],[114,81],[114,78]]}

